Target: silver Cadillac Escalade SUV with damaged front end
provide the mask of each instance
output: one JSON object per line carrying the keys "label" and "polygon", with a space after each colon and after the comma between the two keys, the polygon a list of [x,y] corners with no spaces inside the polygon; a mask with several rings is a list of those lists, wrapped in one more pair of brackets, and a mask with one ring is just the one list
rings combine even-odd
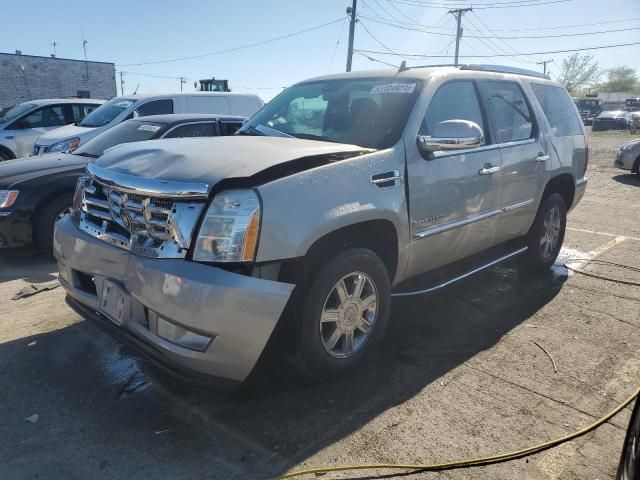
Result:
{"label": "silver Cadillac Escalade SUV with damaged front end", "polygon": [[332,377],[376,347],[392,297],[515,256],[548,269],[587,157],[571,98],[535,72],[315,78],[234,136],[106,152],[56,224],[60,282],[185,374],[243,381],[271,339]]}

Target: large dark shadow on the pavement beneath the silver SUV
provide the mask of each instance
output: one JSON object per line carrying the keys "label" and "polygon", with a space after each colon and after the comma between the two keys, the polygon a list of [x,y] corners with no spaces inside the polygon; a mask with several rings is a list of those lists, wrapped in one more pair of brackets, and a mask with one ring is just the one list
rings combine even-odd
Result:
{"label": "large dark shadow on the pavement beneath the silver SUV", "polygon": [[[173,478],[203,472],[273,478],[495,345],[550,302],[565,280],[559,269],[531,277],[507,263],[437,293],[399,299],[385,341],[357,374],[312,384],[268,355],[236,395],[168,377],[89,322],[0,344],[0,364],[10,365],[0,373],[9,386],[0,404],[15,412],[35,401],[68,419],[60,427],[64,442],[44,435],[25,446],[8,428],[0,464],[30,455],[40,472],[78,477],[78,469],[89,474],[104,457],[110,478],[163,478],[167,471]],[[37,355],[26,348],[34,340]],[[163,429],[165,437],[157,434]],[[96,460],[83,463],[89,454]],[[37,473],[31,462],[16,462],[9,473]],[[63,462],[76,470],[60,470]]]}

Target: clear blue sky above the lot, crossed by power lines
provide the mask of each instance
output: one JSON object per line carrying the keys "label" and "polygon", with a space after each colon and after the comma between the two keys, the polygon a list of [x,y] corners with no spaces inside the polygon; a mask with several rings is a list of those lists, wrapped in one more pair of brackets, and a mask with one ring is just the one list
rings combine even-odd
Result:
{"label": "clear blue sky above the lot, crossed by power lines", "polygon": [[[533,0],[520,0],[521,3],[530,1]],[[545,1],[550,0],[540,0]],[[476,7],[463,20],[465,37],[460,48],[462,62],[499,63],[539,69],[540,66],[530,62],[553,59],[555,63],[549,65],[553,75],[558,71],[562,58],[568,54],[487,59],[465,58],[465,55],[491,54],[496,51],[515,54],[640,42],[640,30],[550,37],[640,27],[640,0],[570,0],[517,8],[480,8],[482,4],[504,2],[505,0],[478,0],[474,3],[456,0],[456,6],[469,4]],[[180,81],[177,78],[155,78],[153,75],[186,77],[188,81],[185,89],[193,89],[194,80],[215,76],[229,79],[234,91],[253,92],[269,99],[281,87],[298,80],[344,71],[348,33],[346,20],[235,52],[177,62],[126,65],[201,55],[297,32],[345,18],[345,7],[350,3],[351,0],[22,0],[12,3],[9,8],[6,5],[3,8],[0,51],[13,52],[19,49],[23,54],[48,55],[53,52],[51,44],[56,42],[59,57],[82,58],[84,30],[90,60],[114,62],[117,70],[127,72],[125,93],[131,93],[138,83],[140,92],[179,90]],[[421,6],[410,3],[420,3]],[[361,24],[356,27],[355,46],[361,50],[390,49],[403,53],[453,55],[453,37],[447,36],[455,33],[453,17],[446,14],[447,8],[422,6],[447,3],[451,3],[451,0],[359,0],[358,10],[362,16]],[[382,22],[402,22],[405,28]],[[564,27],[600,22],[614,23],[580,28]],[[424,30],[425,26],[430,27],[431,32],[439,34],[410,30]],[[558,26],[564,28],[542,30],[543,27]],[[543,38],[480,40],[471,35]],[[595,55],[602,68],[627,65],[638,69],[640,73],[640,45],[589,53]],[[368,55],[391,64],[399,64],[402,60],[392,55]],[[407,63],[417,65],[451,61],[452,57],[410,59]],[[359,54],[354,55],[354,70],[380,66],[382,65]]]}

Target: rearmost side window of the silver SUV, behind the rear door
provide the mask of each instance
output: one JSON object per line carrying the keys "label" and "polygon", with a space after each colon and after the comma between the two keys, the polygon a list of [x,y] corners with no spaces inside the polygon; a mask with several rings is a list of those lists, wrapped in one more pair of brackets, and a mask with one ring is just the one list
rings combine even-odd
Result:
{"label": "rearmost side window of the silver SUV, behind the rear door", "polygon": [[556,137],[582,135],[582,121],[564,88],[537,83],[532,83],[531,88]]}

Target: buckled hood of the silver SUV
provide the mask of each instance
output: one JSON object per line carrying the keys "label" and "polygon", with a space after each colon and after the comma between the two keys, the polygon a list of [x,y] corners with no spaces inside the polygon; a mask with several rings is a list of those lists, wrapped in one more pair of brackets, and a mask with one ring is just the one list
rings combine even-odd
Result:
{"label": "buckled hood of the silver SUV", "polygon": [[283,137],[173,138],[117,145],[96,165],[138,177],[213,186],[223,179],[247,178],[284,164],[291,167],[288,173],[294,173],[371,151],[357,145]]}

